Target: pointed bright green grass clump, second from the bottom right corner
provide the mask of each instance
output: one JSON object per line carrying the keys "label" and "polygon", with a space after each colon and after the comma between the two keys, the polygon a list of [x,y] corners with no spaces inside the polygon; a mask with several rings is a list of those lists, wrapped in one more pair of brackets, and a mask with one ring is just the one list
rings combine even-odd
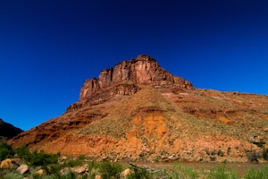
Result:
{"label": "pointed bright green grass clump, second from the bottom right corner", "polygon": [[239,176],[236,172],[228,172],[225,170],[225,164],[223,166],[215,167],[210,171],[208,178],[211,179],[237,179]]}

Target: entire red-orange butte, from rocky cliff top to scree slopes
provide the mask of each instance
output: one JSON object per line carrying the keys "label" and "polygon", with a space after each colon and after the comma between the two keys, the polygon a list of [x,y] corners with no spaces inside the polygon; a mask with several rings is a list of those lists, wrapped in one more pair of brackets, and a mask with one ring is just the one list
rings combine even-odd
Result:
{"label": "entire red-orange butte, from rocky cliff top to scree slopes", "polygon": [[267,96],[198,90],[139,55],[85,81],[66,113],[11,142],[99,159],[246,161],[267,141]]}

